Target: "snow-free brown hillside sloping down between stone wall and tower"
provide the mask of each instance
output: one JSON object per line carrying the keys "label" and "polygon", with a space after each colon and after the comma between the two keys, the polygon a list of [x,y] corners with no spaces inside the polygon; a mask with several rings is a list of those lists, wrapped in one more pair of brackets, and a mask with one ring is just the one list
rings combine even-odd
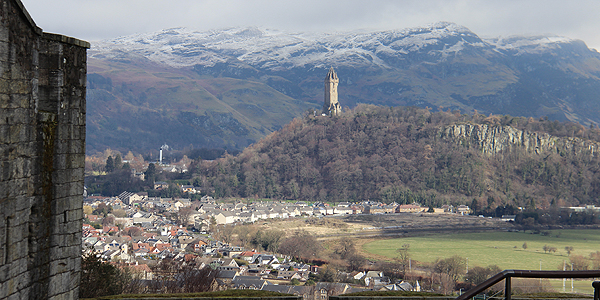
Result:
{"label": "snow-free brown hillside sloping down between stone wall and tower", "polygon": [[89,60],[87,152],[163,144],[243,149],[309,106],[260,82],[147,61]]}

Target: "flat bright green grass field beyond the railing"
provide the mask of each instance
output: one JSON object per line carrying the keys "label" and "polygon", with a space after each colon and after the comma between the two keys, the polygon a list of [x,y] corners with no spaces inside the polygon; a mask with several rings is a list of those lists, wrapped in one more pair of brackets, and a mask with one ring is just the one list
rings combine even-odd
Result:
{"label": "flat bright green grass field beyond the railing", "polygon": [[[523,243],[527,249],[523,249]],[[390,260],[397,256],[396,249],[410,245],[411,259],[416,262],[433,262],[437,258],[459,255],[468,258],[469,266],[498,265],[500,269],[542,270],[562,269],[569,262],[565,251],[572,246],[571,255],[588,257],[600,251],[600,230],[553,230],[550,234],[523,232],[486,232],[427,235],[399,239],[384,239],[363,245],[363,250]],[[555,253],[544,253],[543,247],[555,247]]]}

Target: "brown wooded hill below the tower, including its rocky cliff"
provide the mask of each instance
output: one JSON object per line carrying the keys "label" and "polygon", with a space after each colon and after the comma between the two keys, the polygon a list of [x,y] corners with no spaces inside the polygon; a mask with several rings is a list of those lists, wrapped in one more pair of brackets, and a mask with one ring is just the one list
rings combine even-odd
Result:
{"label": "brown wooded hill below the tower, including its rocky cliff", "polygon": [[598,141],[597,128],[544,118],[359,105],[197,170],[219,197],[547,208],[598,204]]}

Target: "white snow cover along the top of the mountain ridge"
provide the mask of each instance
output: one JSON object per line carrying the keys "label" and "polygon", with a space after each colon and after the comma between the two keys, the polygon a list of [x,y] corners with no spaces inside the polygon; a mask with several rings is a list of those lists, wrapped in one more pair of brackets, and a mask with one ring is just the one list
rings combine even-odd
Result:
{"label": "white snow cover along the top of the mountain ridge", "polygon": [[346,63],[388,68],[386,57],[403,59],[421,51],[443,59],[466,47],[540,52],[569,41],[560,37],[482,40],[468,28],[449,22],[401,30],[330,34],[287,33],[257,27],[199,32],[180,27],[101,41],[88,53],[98,59],[141,56],[174,67],[211,67],[238,59],[257,68],[273,70]]}

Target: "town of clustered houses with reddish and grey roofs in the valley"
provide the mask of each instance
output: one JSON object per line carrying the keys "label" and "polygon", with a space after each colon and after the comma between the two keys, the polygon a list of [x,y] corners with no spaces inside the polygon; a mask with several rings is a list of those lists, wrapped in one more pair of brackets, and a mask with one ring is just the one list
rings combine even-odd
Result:
{"label": "town of clustered houses with reddish and grey roofs in the valley", "polygon": [[[157,182],[156,189],[165,186]],[[193,187],[180,187],[195,193]],[[89,196],[84,200],[84,255],[96,255],[102,261],[129,268],[136,279],[151,282],[163,278],[161,264],[175,262],[202,269],[218,270],[213,289],[255,289],[303,295],[305,299],[323,299],[365,290],[418,291],[420,286],[407,281],[390,280],[380,270],[338,271],[345,282],[319,282],[316,275],[326,263],[298,259],[234,245],[225,228],[288,218],[335,218],[351,214],[458,214],[468,215],[468,206],[421,207],[418,204],[379,202],[329,203],[306,201],[215,201],[211,196],[200,200],[148,197],[146,192],[123,192],[117,197]],[[364,228],[372,230],[373,228]],[[229,232],[228,234],[231,234]]]}

